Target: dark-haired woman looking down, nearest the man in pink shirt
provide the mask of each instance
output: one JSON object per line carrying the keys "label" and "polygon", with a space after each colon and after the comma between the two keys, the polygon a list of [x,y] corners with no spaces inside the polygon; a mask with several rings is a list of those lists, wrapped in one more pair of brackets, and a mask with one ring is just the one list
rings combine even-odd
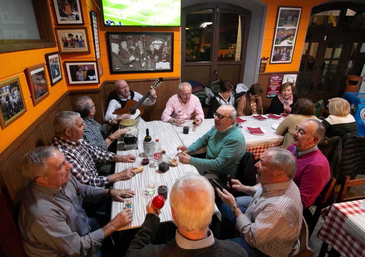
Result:
{"label": "dark-haired woman looking down, nearest the man in pink shirt", "polygon": [[220,106],[230,105],[234,107],[234,96],[232,95],[233,85],[231,81],[225,80],[220,83],[219,93],[210,99],[210,106],[207,114],[208,119],[214,119],[214,113]]}

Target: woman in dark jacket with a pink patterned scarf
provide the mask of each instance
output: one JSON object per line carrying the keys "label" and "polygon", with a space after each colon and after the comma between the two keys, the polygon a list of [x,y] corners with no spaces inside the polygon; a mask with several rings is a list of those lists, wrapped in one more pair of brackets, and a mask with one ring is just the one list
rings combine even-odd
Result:
{"label": "woman in dark jacket with a pink patterned scarf", "polygon": [[265,114],[285,114],[293,113],[293,107],[298,100],[298,97],[293,94],[295,86],[291,82],[286,82],[280,86],[280,94],[274,97]]}

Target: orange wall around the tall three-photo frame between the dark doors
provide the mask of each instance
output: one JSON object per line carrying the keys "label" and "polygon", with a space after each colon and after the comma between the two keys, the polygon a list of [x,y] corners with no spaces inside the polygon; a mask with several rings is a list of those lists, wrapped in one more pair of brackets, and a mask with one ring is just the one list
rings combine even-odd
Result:
{"label": "orange wall around the tall three-photo frame between the dark doors", "polygon": [[283,71],[297,71],[299,70],[301,53],[306,39],[308,21],[311,16],[312,7],[326,0],[306,0],[306,1],[292,1],[292,0],[261,0],[268,4],[268,11],[266,15],[266,23],[264,30],[264,40],[262,42],[261,57],[271,57],[271,49],[274,38],[275,21],[277,16],[277,9],[279,6],[303,7],[300,16],[298,33],[295,41],[293,58],[291,64],[268,64],[265,72],[283,72]]}

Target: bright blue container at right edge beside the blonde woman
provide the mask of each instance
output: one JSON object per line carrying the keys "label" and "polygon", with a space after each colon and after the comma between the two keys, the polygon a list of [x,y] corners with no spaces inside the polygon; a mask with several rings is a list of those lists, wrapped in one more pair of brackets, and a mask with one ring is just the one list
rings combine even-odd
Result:
{"label": "bright blue container at right edge beside the blonde woman", "polygon": [[350,113],[357,123],[357,135],[365,136],[365,93],[344,93],[342,98],[350,103]]}

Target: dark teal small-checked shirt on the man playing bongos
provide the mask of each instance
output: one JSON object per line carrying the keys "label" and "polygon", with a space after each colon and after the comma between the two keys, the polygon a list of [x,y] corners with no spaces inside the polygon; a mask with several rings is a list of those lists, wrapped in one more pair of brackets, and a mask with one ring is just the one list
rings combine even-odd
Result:
{"label": "dark teal small-checked shirt on the man playing bongos", "polygon": [[95,145],[105,151],[107,151],[107,143],[105,142],[103,135],[109,135],[110,131],[107,129],[107,125],[104,124],[101,126],[97,123],[94,118],[82,118],[84,119],[84,124],[86,125],[86,129],[84,131],[84,140],[92,145]]}

